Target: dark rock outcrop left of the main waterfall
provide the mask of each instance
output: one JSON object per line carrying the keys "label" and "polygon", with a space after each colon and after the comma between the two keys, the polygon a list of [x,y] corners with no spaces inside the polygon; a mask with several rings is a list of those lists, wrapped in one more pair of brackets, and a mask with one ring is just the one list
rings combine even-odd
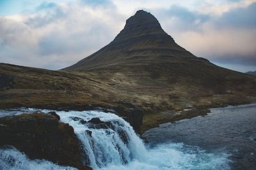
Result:
{"label": "dark rock outcrop left of the main waterfall", "polygon": [[0,146],[12,145],[30,159],[45,159],[63,166],[83,166],[74,129],[43,113],[0,118]]}

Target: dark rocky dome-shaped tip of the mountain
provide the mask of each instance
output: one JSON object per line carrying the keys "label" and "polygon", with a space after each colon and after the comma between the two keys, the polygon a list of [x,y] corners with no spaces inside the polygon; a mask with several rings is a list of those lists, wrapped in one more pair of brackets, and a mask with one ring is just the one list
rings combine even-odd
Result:
{"label": "dark rocky dome-shaped tip of the mountain", "polygon": [[166,34],[154,15],[147,11],[139,10],[132,17],[126,20],[124,29],[116,36],[133,36],[143,34]]}

